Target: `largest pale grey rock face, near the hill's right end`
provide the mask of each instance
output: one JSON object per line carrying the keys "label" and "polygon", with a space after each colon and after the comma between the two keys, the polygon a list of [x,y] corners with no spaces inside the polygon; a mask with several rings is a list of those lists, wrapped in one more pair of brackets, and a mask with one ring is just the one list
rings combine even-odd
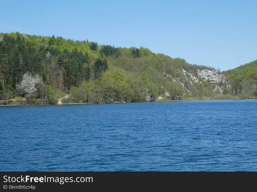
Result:
{"label": "largest pale grey rock face, near the hill's right end", "polygon": [[210,83],[225,84],[226,82],[226,76],[223,74],[218,74],[218,72],[215,70],[197,70],[197,75],[199,75],[199,77],[201,77],[204,81]]}

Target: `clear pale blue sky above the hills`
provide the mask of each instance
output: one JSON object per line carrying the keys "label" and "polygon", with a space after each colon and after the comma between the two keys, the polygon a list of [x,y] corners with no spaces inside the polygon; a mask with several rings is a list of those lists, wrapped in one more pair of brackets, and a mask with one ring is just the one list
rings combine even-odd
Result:
{"label": "clear pale blue sky above the hills", "polygon": [[147,47],[221,70],[257,59],[257,1],[0,1],[0,32]]}

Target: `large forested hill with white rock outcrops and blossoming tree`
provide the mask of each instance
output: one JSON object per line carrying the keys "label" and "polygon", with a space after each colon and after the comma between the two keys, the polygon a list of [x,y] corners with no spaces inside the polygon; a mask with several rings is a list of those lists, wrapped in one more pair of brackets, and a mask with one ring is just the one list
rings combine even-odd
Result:
{"label": "large forested hill with white rock outcrops and blossoming tree", "polygon": [[219,71],[147,48],[0,33],[0,100],[5,103],[17,98],[22,104],[56,104],[60,98],[62,103],[120,103],[228,94],[238,92]]}

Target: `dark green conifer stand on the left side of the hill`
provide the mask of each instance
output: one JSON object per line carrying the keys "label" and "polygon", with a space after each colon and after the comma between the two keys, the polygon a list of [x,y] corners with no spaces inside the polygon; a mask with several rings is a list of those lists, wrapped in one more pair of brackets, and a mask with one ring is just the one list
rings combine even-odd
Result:
{"label": "dark green conifer stand on the left side of the hill", "polygon": [[[76,47],[69,51],[58,49],[59,39],[52,36],[48,42],[43,38],[39,45],[32,45],[16,33],[16,37],[4,34],[0,41],[0,98],[8,100],[17,94],[16,86],[26,72],[38,74],[44,83],[55,91],[65,91],[82,80],[98,78],[107,69],[107,60],[98,57],[91,63],[87,52]],[[68,40],[69,41],[69,40]],[[94,43],[91,43],[91,45]],[[95,45],[95,44],[94,44]],[[91,46],[92,49],[95,49]],[[23,95],[22,95],[23,96]]]}

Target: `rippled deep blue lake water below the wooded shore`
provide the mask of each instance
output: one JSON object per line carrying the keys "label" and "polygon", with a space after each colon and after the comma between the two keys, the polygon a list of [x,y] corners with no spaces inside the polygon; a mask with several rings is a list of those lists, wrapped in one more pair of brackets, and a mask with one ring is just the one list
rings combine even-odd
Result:
{"label": "rippled deep blue lake water below the wooded shore", "polygon": [[0,171],[257,171],[257,100],[0,107]]}

